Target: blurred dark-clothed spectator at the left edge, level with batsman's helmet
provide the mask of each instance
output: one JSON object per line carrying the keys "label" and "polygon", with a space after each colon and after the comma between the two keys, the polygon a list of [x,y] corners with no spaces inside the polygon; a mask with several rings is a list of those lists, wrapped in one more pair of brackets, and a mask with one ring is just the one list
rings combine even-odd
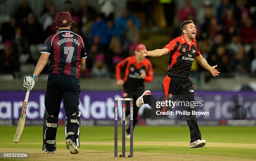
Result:
{"label": "blurred dark-clothed spectator at the left edge, level with batsman's helmet", "polygon": [[5,22],[1,26],[2,41],[12,40],[15,36],[16,19],[11,18],[10,22]]}

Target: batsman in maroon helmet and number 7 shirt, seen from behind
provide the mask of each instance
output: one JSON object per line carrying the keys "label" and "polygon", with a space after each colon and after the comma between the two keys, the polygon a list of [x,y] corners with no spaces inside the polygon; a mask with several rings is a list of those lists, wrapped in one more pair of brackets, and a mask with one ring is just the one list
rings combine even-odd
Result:
{"label": "batsman in maroon helmet and number 7 shirt, seen from behind", "polygon": [[[49,77],[47,81],[43,150],[45,153],[55,153],[56,133],[61,100],[66,113],[65,133],[66,145],[71,154],[78,153],[80,115],[79,105],[79,75],[81,66],[85,63],[86,51],[82,37],[72,32],[73,21],[68,12],[60,12],[56,16],[56,32],[49,36],[41,50],[32,77],[24,78],[24,89],[31,89],[38,81],[38,75],[46,66],[50,57]],[[32,83],[30,84],[29,82]]]}

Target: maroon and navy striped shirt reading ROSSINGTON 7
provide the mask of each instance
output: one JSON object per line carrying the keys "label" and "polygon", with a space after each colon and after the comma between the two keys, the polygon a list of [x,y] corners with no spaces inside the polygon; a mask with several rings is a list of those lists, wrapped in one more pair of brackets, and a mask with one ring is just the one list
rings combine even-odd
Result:
{"label": "maroon and navy striped shirt reading ROSSINGTON 7", "polygon": [[50,54],[49,74],[79,79],[80,60],[87,57],[84,41],[71,30],[63,29],[47,37],[41,53]]}

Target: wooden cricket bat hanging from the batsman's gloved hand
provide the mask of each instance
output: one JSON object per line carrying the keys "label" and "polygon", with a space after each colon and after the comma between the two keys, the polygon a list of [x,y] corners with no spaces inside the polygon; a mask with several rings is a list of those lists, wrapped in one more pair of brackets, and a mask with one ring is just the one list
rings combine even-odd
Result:
{"label": "wooden cricket bat hanging from the batsman's gloved hand", "polygon": [[25,97],[25,100],[23,102],[23,106],[22,106],[22,109],[20,112],[20,119],[18,122],[18,126],[17,126],[17,130],[15,133],[14,139],[13,139],[13,142],[15,142],[15,143],[18,143],[20,136],[22,134],[22,131],[24,129],[24,126],[25,126],[26,110],[27,110],[29,92],[30,92],[30,88],[26,92],[26,97]]}

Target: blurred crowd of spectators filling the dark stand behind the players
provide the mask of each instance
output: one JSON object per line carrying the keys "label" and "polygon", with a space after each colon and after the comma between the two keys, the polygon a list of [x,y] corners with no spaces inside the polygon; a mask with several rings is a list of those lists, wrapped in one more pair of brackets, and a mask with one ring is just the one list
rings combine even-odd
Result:
{"label": "blurred crowd of spectators filling the dark stand behind the players", "polygon": [[[72,1],[67,0],[61,10],[72,15],[73,32],[81,35],[86,43],[88,57],[81,72],[82,77],[113,77],[115,65],[134,53],[136,44],[140,43],[141,29],[147,29],[126,8],[115,18],[114,2],[98,0],[99,7],[95,9],[83,0],[80,8],[74,10]],[[147,2],[152,8],[158,0]],[[175,6],[174,1],[170,2],[173,4],[169,5]],[[172,29],[170,40],[181,35],[179,25],[184,20],[194,20],[200,51],[210,65],[218,64],[220,72],[256,73],[256,7],[253,8],[251,2],[221,0],[220,6],[215,8],[211,1],[205,0],[202,8],[195,10],[189,0],[184,0],[184,6],[173,15],[180,22],[167,23],[167,27]],[[1,25],[1,74],[19,76],[25,70],[21,69],[22,65],[36,64],[44,40],[55,33],[53,22],[57,12],[51,0],[46,0],[38,18],[27,1],[22,0],[10,21]],[[148,17],[148,20],[154,22],[152,17]],[[166,16],[166,20],[173,21],[173,18]],[[153,25],[157,30],[156,22]],[[202,69],[198,66],[192,70]],[[47,67],[44,72],[47,72]]]}

